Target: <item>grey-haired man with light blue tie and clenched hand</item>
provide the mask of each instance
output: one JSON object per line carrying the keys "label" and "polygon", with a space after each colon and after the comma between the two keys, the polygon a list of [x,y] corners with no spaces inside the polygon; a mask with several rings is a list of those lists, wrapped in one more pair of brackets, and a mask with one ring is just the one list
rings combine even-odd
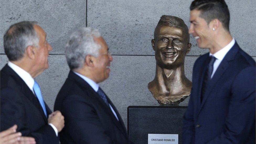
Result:
{"label": "grey-haired man with light blue tie and clenched hand", "polygon": [[10,26],[4,35],[9,62],[1,70],[1,131],[16,124],[23,136],[36,143],[59,143],[64,126],[60,111],[51,112],[34,78],[48,68],[52,47],[36,22]]}

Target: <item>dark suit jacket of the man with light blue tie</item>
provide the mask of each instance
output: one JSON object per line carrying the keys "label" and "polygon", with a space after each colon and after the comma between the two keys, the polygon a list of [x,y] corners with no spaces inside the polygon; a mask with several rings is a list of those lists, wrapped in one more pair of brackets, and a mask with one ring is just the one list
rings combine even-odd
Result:
{"label": "dark suit jacket of the man with light blue tie", "polygon": [[[48,125],[44,111],[26,83],[8,65],[1,76],[1,131],[14,124],[23,136],[34,137],[37,144],[59,143],[54,129]],[[51,110],[45,104],[47,115]]]}

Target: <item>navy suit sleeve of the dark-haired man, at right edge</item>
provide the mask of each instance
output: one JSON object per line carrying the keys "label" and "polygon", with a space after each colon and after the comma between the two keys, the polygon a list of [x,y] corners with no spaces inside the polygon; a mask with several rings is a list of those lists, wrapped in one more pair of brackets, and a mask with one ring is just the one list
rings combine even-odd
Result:
{"label": "navy suit sleeve of the dark-haired man, at right edge", "polygon": [[255,67],[248,67],[234,79],[225,129],[209,144],[245,143],[249,139],[255,127],[255,73]]}

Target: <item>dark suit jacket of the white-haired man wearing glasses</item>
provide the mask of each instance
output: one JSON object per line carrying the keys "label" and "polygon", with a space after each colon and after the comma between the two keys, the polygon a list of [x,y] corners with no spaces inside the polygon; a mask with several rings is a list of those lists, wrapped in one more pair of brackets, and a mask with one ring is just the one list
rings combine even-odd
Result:
{"label": "dark suit jacket of the white-haired man wearing glasses", "polygon": [[70,71],[54,105],[65,117],[61,143],[128,143],[122,118],[110,99],[108,102],[119,121],[93,88]]}

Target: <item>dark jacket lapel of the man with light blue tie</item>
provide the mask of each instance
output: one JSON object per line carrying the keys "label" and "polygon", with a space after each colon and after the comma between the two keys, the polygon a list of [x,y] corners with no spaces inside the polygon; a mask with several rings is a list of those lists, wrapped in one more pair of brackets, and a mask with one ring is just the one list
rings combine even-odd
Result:
{"label": "dark jacket lapel of the man with light blue tie", "polygon": [[31,103],[34,104],[34,106],[39,110],[39,113],[41,113],[42,118],[44,119],[44,121],[47,123],[47,118],[45,117],[44,111],[43,111],[43,109],[42,109],[42,107],[39,103],[39,100],[36,98],[36,96],[33,94],[33,92],[29,89],[29,87],[23,81],[23,79],[20,78],[19,75],[15,71],[13,71],[13,69],[10,68],[8,65],[6,65],[2,70],[6,74],[14,77],[14,79],[20,85],[19,90],[25,95],[26,98],[28,98],[31,101]]}

